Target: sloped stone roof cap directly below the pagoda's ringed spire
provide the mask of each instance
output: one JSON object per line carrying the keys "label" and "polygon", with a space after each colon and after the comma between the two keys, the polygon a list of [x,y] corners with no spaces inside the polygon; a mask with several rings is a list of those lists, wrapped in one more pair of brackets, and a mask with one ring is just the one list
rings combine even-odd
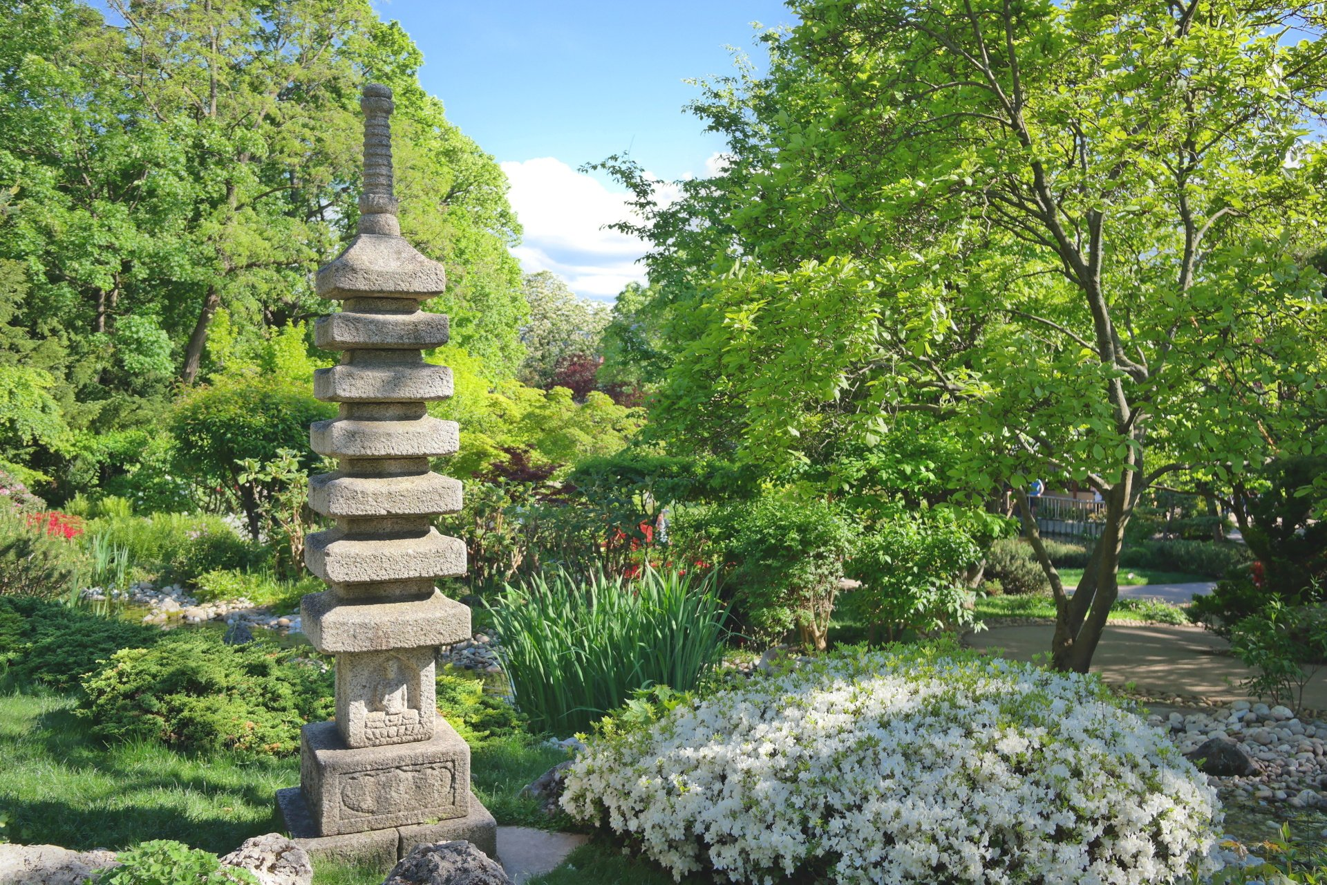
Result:
{"label": "sloped stone roof cap directly below the pagoda's ringed spire", "polygon": [[399,236],[361,234],[341,255],[318,268],[324,299],[431,299],[447,288],[442,265],[425,257]]}

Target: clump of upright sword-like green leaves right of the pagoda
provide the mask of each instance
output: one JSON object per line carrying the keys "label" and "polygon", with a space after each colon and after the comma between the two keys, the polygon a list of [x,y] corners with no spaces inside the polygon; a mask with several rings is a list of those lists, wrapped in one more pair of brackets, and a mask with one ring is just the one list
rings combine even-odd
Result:
{"label": "clump of upright sword-like green leaves right of the pagoda", "polygon": [[539,731],[585,731],[632,693],[695,687],[723,650],[713,581],[646,571],[638,581],[565,572],[508,586],[492,609],[516,706]]}

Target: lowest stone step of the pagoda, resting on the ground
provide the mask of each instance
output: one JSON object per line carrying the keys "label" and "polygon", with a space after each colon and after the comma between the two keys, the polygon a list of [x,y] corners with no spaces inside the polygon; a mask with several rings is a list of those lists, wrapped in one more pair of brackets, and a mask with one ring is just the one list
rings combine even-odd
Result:
{"label": "lowest stone step of the pagoda, resting on the ground", "polygon": [[438,823],[369,829],[341,836],[320,836],[299,787],[276,791],[276,804],[291,839],[314,860],[333,860],[386,872],[415,845],[464,839],[475,848],[498,857],[498,823],[488,809],[468,796],[470,813]]}

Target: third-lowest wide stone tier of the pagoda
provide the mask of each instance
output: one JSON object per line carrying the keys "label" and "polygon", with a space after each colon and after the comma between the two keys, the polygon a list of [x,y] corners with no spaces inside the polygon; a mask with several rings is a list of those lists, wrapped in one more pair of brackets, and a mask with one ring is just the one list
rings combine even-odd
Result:
{"label": "third-lowest wide stone tier of the pagoda", "polygon": [[438,474],[309,479],[309,507],[324,516],[433,516],[460,510],[460,482]]}

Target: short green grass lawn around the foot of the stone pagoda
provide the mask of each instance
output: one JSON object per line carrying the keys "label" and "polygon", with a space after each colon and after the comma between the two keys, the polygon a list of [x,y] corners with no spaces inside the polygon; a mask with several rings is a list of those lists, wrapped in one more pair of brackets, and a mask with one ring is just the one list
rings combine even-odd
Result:
{"label": "short green grass lawn around the foot of the stone pagoda", "polygon": [[[283,829],[273,796],[300,782],[297,756],[104,746],[86,736],[74,705],[58,694],[0,694],[0,832],[9,841],[118,851],[174,839],[223,854],[249,836]],[[567,828],[568,819],[549,819],[535,800],[518,796],[563,759],[560,750],[522,739],[488,742],[471,756],[475,795],[499,824]],[[314,885],[380,885],[384,877],[336,865],[316,873]]]}

